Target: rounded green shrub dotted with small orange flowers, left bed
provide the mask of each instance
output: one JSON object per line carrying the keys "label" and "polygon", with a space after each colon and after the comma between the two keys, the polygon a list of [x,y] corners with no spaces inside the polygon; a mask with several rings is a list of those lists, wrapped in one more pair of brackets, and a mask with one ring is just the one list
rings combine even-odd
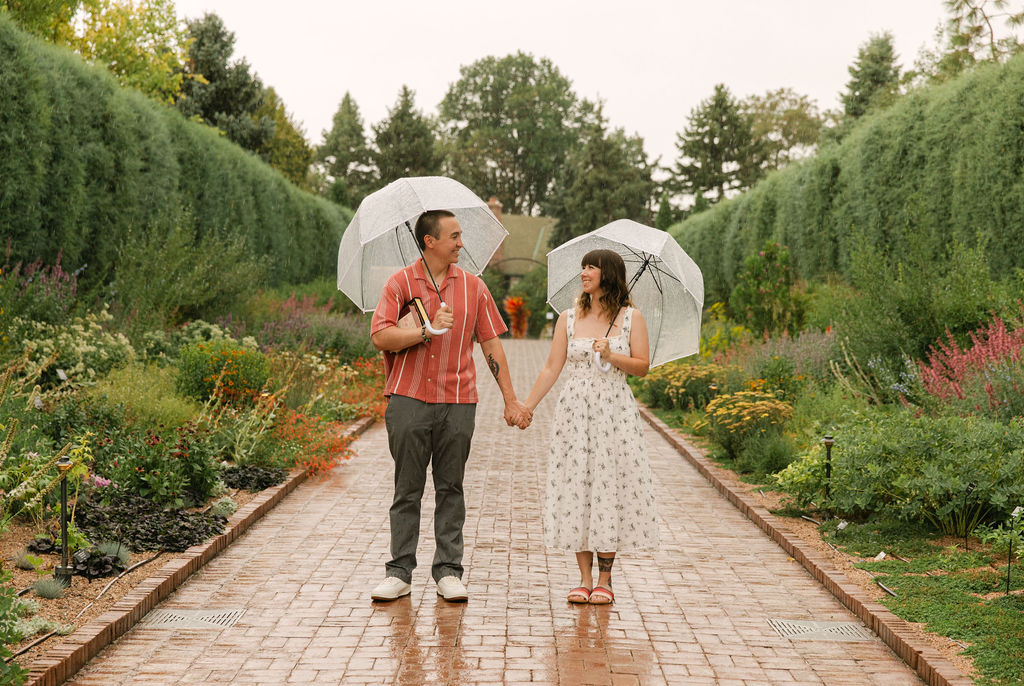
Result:
{"label": "rounded green shrub dotted with small orange flowers, left bed", "polygon": [[220,399],[246,406],[252,404],[269,376],[262,352],[223,339],[182,348],[176,385],[179,392],[201,402],[216,390]]}

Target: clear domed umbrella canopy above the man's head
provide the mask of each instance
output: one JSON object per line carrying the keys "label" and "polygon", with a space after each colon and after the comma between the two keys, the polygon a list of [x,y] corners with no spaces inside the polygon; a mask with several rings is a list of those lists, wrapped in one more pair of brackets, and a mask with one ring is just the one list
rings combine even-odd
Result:
{"label": "clear domed umbrella canopy above the man's head", "polygon": [[444,176],[400,178],[359,203],[338,247],[338,290],[364,312],[377,307],[384,284],[420,253],[413,238],[416,220],[430,210],[447,210],[462,226],[459,266],[483,271],[508,235],[487,204]]}

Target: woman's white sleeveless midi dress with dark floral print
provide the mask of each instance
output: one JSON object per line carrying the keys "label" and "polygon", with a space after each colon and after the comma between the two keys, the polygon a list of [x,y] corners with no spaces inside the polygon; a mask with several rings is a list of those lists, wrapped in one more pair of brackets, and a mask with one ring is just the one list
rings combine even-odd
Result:
{"label": "woman's white sleeveless midi dress with dark floral print", "polygon": [[[612,352],[629,353],[633,308]],[[571,552],[657,549],[657,514],[640,413],[626,373],[602,372],[592,338],[573,337],[566,319],[565,383],[555,410],[548,454],[545,544]]]}

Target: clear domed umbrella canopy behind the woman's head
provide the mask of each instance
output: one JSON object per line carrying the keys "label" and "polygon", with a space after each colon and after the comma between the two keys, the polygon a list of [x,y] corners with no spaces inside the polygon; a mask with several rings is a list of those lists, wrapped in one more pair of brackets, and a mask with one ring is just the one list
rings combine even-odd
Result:
{"label": "clear domed umbrella canopy behind the woman's head", "polygon": [[572,307],[583,288],[580,263],[592,250],[612,250],[626,262],[630,298],[643,312],[650,335],[650,366],[692,355],[700,344],[703,276],[665,231],[618,219],[548,253],[548,302],[558,312]]}

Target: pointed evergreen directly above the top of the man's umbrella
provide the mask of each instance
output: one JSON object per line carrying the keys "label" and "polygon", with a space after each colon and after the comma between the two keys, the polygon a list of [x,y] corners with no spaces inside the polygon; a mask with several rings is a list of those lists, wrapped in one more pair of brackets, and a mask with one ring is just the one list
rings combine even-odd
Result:
{"label": "pointed evergreen directly above the top of the man's umbrella", "polygon": [[375,124],[371,159],[386,185],[403,176],[431,176],[440,173],[442,158],[438,152],[432,122],[416,110],[415,91],[402,86],[394,108]]}

